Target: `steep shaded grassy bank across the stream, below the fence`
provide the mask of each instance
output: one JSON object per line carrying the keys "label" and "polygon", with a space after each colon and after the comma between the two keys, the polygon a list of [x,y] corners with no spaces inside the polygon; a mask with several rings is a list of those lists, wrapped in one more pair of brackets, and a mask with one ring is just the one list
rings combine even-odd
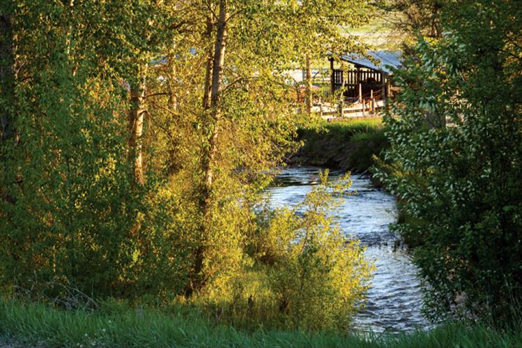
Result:
{"label": "steep shaded grassy bank across the stream, below the fence", "polygon": [[374,165],[372,157],[387,146],[384,133],[381,117],[318,121],[298,130],[304,144],[292,164],[366,172]]}

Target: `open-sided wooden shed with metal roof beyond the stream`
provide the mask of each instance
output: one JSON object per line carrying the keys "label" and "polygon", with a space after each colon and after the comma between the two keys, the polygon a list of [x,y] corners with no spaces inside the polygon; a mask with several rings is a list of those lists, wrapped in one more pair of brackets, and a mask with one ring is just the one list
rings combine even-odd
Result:
{"label": "open-sided wooden shed with metal roof beyond the stream", "polygon": [[392,68],[401,68],[399,51],[367,51],[366,54],[349,53],[341,56],[353,66],[348,70],[336,69],[330,57],[331,92],[342,89],[346,101],[363,103],[364,100],[386,100],[390,96]]}

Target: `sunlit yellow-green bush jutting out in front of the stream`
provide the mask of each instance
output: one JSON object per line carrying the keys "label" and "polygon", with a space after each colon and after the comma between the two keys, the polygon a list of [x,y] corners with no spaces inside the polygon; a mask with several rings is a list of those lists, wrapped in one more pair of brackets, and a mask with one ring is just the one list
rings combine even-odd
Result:
{"label": "sunlit yellow-green bush jutting out in front of the stream", "polygon": [[327,180],[328,172],[324,172],[321,184],[304,202],[271,224],[277,234],[286,230],[292,236],[290,243],[279,247],[286,252],[269,273],[279,311],[288,315],[292,328],[347,328],[364,304],[369,286],[371,266],[362,255],[364,248],[355,239],[346,241],[332,222],[331,209],[339,202],[330,190],[342,195],[351,181],[344,178],[332,186]]}

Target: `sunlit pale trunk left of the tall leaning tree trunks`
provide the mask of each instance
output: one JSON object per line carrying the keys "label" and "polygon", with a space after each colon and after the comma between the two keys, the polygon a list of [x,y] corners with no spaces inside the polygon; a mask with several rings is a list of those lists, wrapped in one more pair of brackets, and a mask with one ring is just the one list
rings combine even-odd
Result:
{"label": "sunlit pale trunk left of the tall leaning tree trunks", "polygon": [[130,86],[130,111],[128,114],[129,160],[134,169],[135,183],[144,183],[143,174],[143,123],[146,112],[145,91],[147,64],[139,68],[139,82]]}

